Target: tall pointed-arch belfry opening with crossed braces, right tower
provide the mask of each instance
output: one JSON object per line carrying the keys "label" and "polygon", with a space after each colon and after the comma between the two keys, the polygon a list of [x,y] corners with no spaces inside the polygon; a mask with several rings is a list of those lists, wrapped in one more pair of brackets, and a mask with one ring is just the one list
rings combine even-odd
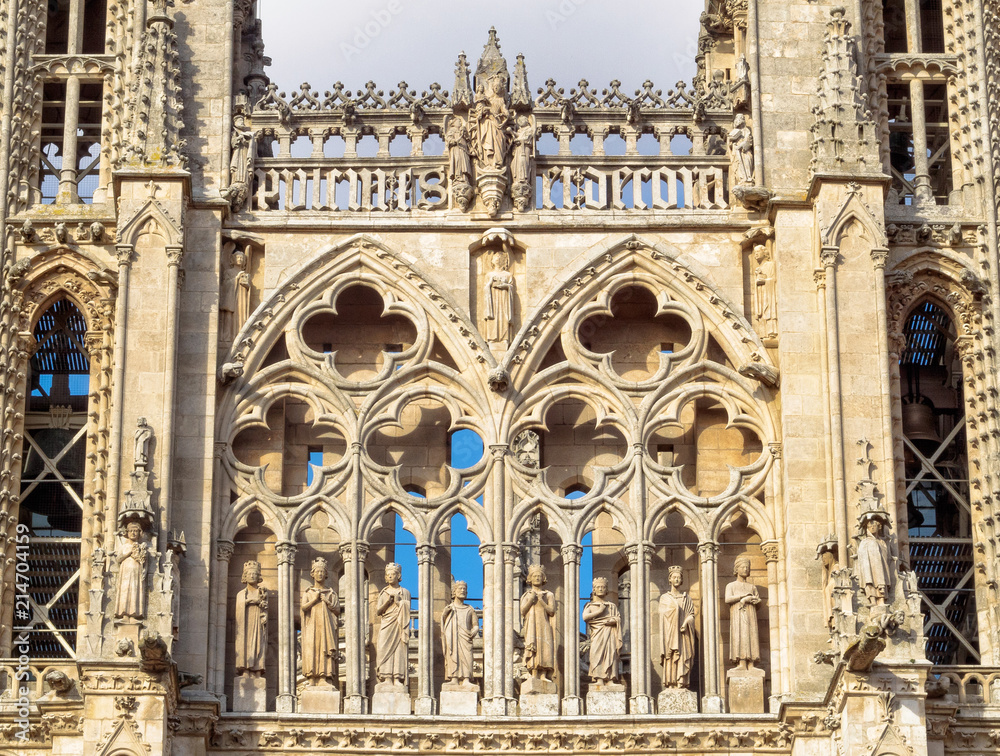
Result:
{"label": "tall pointed-arch belfry opening with crossed braces, right tower", "polygon": [[904,327],[900,358],[909,561],[924,611],[927,658],[980,662],[972,506],[955,329],[932,302]]}

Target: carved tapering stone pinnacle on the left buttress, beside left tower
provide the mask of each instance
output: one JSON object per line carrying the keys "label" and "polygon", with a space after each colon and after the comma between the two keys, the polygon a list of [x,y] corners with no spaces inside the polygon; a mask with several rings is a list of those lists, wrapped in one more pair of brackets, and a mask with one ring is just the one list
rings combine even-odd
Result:
{"label": "carved tapering stone pinnacle on the left buttress, beside left tower", "polygon": [[139,42],[126,105],[125,140],[116,168],[185,168],[180,55],[168,0],[154,0]]}

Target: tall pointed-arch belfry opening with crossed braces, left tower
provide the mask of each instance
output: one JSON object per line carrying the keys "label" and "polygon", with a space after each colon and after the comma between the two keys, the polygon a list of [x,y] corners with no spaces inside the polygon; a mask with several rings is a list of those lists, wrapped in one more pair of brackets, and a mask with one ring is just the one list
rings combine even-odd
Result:
{"label": "tall pointed-arch belfry opening with crossed braces, left tower", "polygon": [[35,326],[28,368],[18,523],[27,526],[33,658],[72,658],[79,613],[90,360],[87,326],[67,299]]}

